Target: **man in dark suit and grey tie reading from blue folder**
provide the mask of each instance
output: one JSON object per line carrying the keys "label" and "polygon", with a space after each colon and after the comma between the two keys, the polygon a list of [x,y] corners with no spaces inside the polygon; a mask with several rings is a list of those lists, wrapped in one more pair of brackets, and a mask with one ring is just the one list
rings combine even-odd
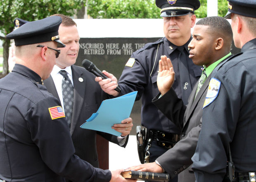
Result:
{"label": "man in dark suit and grey tie reading from blue folder", "polygon": [[[108,99],[108,97],[94,81],[95,76],[93,74],[83,67],[73,65],[78,56],[80,39],[76,23],[68,16],[56,15],[62,18],[59,35],[60,39],[65,42],[66,47],[60,49],[61,54],[56,59],[56,65],[51,72],[51,76],[44,81],[44,85],[48,92],[52,93],[61,102],[64,108],[72,141],[76,149],[75,154],[92,164],[92,166],[99,167],[96,134],[100,134],[108,141],[125,147],[128,142],[128,134],[130,134],[133,126],[132,119],[127,118],[122,121],[123,124],[114,125],[113,128],[122,133],[121,137],[80,128],[92,113],[96,113],[101,102],[104,99]],[[71,81],[73,85],[73,96],[70,96],[70,101],[73,102],[71,105],[66,104],[62,99],[62,94],[64,94],[64,91],[62,91],[62,80],[64,77],[59,73],[61,70],[69,76],[66,81]]]}

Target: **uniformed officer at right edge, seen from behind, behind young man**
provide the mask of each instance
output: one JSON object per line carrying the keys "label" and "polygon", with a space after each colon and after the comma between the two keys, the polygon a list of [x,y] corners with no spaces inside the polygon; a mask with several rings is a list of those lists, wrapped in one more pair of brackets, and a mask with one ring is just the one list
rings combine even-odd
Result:
{"label": "uniformed officer at right edge, seen from behind, behind young man", "polygon": [[[226,17],[232,20],[233,39],[241,53],[216,67],[212,74],[203,106],[202,129],[192,157],[198,182],[230,181],[229,178],[255,182],[255,12],[254,0],[228,0]],[[235,172],[234,167],[230,173],[226,170],[227,161],[233,161]]]}

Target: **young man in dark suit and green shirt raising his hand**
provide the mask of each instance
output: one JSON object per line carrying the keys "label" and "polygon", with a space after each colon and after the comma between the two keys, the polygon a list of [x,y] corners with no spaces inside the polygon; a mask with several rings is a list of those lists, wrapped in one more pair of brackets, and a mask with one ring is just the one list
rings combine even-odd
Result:
{"label": "young man in dark suit and green shirt raising his hand", "polygon": [[195,65],[204,65],[204,70],[190,94],[188,105],[183,104],[172,88],[175,73],[171,60],[165,55],[159,61],[157,86],[160,93],[153,99],[153,103],[182,129],[180,141],[158,157],[155,163],[132,167],[133,170],[166,171],[171,178],[180,173],[179,182],[195,181],[191,157],[201,130],[202,108],[209,78],[213,69],[231,55],[232,30],[224,18],[206,17],[197,22],[192,37],[188,45],[189,57]]}

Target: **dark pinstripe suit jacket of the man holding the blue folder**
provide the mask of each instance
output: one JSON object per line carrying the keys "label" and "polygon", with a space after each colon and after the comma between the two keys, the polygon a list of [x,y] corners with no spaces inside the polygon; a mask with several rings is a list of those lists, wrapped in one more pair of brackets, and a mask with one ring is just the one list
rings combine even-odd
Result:
{"label": "dark pinstripe suit jacket of the man holding the blue folder", "polygon": [[[73,77],[74,103],[70,134],[76,150],[75,154],[92,164],[92,166],[99,167],[96,149],[96,134],[100,134],[108,141],[119,145],[117,137],[100,131],[82,129],[80,126],[92,115],[92,113],[96,113],[101,102],[108,99],[108,97],[107,94],[101,90],[100,85],[95,82],[95,76],[89,71],[76,65],[72,65],[71,70]],[[83,78],[83,81],[79,81],[78,78]],[[59,99],[51,76],[44,81],[44,85],[48,92]],[[125,147],[127,142],[128,138],[122,147]]]}

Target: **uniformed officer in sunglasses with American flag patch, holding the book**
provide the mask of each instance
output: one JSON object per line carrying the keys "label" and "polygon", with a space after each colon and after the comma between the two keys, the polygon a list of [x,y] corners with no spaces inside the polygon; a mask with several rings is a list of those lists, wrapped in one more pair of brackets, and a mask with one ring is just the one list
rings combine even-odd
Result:
{"label": "uniformed officer in sunglasses with American flag patch, holding the book", "polygon": [[[0,179],[26,182],[126,181],[122,170],[94,168],[75,149],[59,101],[43,85],[50,76],[62,19],[28,22],[7,35],[14,39],[16,64],[0,79]],[[127,180],[128,181],[128,180]]]}

